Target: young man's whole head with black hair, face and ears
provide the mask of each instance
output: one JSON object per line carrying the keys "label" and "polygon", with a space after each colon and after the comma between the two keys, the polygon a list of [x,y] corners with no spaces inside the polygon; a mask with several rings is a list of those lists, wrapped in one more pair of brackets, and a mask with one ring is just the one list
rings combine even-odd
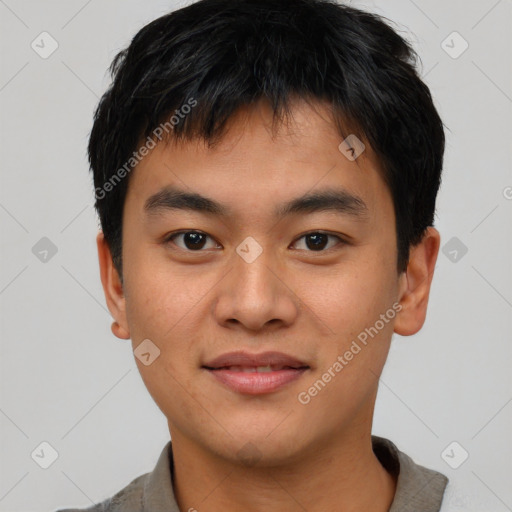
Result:
{"label": "young man's whole head with black hair, face and ears", "polygon": [[[137,364],[173,437],[263,464],[369,430],[439,248],[444,132],[415,63],[328,0],[202,0],[115,58],[89,143],[102,283],[115,333],[159,350]],[[207,363],[236,351],[303,369],[235,392]]]}

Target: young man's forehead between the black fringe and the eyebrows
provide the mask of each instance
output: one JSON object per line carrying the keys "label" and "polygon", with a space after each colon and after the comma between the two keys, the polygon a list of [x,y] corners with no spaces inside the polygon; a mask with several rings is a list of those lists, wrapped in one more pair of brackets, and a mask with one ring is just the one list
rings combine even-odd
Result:
{"label": "young man's forehead between the black fringe and the eyebrows", "polygon": [[[277,203],[326,188],[363,198],[374,211],[389,207],[389,191],[366,141],[350,159],[347,144],[340,149],[344,139],[328,105],[296,102],[291,113],[273,131],[272,110],[259,102],[239,109],[212,147],[200,139],[157,144],[132,171],[125,207],[140,211],[169,186],[215,198],[239,213],[276,211]],[[346,136],[357,144],[354,135]]]}

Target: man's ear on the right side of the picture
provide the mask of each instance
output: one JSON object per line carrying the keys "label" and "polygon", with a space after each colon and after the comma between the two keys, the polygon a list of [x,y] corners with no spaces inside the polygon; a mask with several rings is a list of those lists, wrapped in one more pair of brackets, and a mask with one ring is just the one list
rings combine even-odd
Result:
{"label": "man's ear on the right side of the picture", "polygon": [[402,309],[395,321],[397,334],[416,334],[425,323],[440,243],[439,232],[429,227],[421,242],[411,247],[407,269],[399,278],[399,302]]}

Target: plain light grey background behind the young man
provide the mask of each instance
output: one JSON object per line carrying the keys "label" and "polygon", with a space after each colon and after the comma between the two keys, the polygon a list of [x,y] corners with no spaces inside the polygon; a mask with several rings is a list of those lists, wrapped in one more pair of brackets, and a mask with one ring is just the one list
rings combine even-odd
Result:
{"label": "plain light grey background behind the young man", "polygon": [[[512,1],[352,4],[413,42],[448,128],[437,227],[449,245],[425,327],[394,338],[374,433],[445,473],[454,510],[512,510]],[[168,440],[130,342],[110,333],[85,148],[110,61],[180,5],[0,0],[0,511],[90,505],[150,471]],[[31,47],[51,48],[43,31],[59,45],[46,59]],[[453,31],[469,43],[458,58]],[[43,237],[57,248],[46,261]],[[58,452],[48,469],[31,457],[43,441]]]}

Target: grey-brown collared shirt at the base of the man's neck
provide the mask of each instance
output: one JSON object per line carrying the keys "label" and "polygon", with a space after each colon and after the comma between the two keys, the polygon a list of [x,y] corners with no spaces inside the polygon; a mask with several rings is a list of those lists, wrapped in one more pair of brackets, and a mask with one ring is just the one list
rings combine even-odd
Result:
{"label": "grey-brown collared shirt at the base of the man's neck", "polygon": [[[416,464],[388,439],[372,436],[372,446],[382,466],[397,476],[389,512],[442,512],[441,502],[448,483],[446,476]],[[169,441],[153,471],[139,476],[112,498],[87,509],[57,512],[186,512],[180,511],[174,497],[172,457]]]}

